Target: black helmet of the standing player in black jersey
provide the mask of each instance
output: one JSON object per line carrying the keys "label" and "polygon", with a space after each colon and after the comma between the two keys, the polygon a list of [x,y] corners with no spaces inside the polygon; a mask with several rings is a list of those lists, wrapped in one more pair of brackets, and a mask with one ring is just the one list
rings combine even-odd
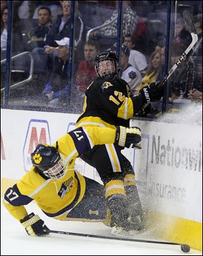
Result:
{"label": "black helmet of the standing player in black jersey", "polygon": [[[110,70],[108,72],[104,72],[103,74],[101,74],[101,72],[99,72],[99,63],[103,62],[105,60],[112,60],[112,62],[114,63],[115,70]],[[94,64],[95,64],[95,71],[97,73],[97,76],[101,77],[101,78],[114,79],[114,77],[116,77],[116,74],[118,74],[118,71],[120,70],[119,69],[119,58],[114,53],[114,51],[102,52],[95,58]]]}

